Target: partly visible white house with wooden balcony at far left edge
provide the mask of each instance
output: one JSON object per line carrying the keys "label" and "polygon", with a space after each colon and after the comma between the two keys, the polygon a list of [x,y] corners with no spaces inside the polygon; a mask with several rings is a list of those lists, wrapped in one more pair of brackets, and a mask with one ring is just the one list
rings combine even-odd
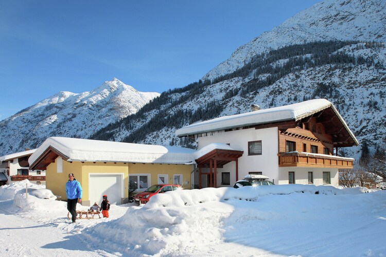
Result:
{"label": "partly visible white house with wooden balcony at far left edge", "polygon": [[45,185],[45,171],[29,169],[28,158],[35,150],[0,156],[0,186],[24,179],[37,185]]}

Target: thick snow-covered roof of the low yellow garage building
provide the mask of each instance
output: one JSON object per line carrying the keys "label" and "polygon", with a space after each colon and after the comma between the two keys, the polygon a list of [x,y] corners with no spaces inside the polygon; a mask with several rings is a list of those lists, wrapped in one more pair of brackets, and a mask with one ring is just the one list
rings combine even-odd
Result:
{"label": "thick snow-covered roof of the low yellow garage building", "polygon": [[195,163],[193,149],[66,137],[47,138],[29,157],[29,163],[34,163],[50,147],[68,157],[67,161]]}

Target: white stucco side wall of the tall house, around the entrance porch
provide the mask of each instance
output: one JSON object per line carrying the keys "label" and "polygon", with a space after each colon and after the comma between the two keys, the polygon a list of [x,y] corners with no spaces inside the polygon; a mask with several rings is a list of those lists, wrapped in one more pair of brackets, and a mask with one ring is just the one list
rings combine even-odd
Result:
{"label": "white stucco side wall of the tall house, around the entrance porch", "polygon": [[[248,155],[248,142],[261,140],[261,155]],[[278,181],[278,129],[277,127],[263,128],[255,130],[249,128],[247,130],[229,131],[216,133],[215,135],[198,138],[199,149],[210,143],[229,143],[234,150],[244,151],[244,154],[239,158],[239,176],[242,179],[249,172],[262,172],[268,176],[270,180]],[[209,169],[203,170],[208,172]],[[221,172],[231,173],[231,187],[236,182],[236,162],[232,161],[226,164],[223,169],[217,169],[217,185],[221,186]],[[202,185],[206,185],[206,176],[202,178]],[[288,178],[287,178],[288,180]],[[198,181],[195,181],[198,184]]]}

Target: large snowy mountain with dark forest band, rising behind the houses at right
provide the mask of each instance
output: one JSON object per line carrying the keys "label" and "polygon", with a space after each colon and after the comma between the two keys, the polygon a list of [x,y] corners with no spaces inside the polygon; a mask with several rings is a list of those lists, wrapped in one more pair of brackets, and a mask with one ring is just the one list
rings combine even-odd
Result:
{"label": "large snowy mountain with dark forest band, rising behind the houses at right", "polygon": [[[385,41],[386,0],[326,0],[241,46],[199,82],[163,93],[92,137],[195,146],[175,131],[249,112],[251,104],[326,98],[360,142],[386,149]],[[358,159],[360,148],[345,150],[346,156]]]}

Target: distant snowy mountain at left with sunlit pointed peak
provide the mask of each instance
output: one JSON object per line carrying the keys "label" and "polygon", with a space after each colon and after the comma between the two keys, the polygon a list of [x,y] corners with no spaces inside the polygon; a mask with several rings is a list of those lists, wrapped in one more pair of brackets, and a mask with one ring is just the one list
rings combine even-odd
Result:
{"label": "distant snowy mountain at left with sunlit pointed peak", "polygon": [[0,155],[36,148],[50,136],[88,138],[159,95],[139,92],[116,78],[90,92],[61,91],[0,122]]}

